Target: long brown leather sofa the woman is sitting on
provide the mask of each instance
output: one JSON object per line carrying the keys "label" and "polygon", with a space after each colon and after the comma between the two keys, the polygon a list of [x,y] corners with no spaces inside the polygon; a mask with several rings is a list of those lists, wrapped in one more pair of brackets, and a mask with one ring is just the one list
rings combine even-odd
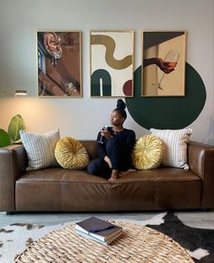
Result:
{"label": "long brown leather sofa the woman is sitting on", "polygon": [[[95,158],[95,141],[82,141]],[[110,183],[86,170],[26,171],[22,145],[0,149],[0,210],[137,211],[214,208],[214,146],[190,141],[190,170],[159,167]]]}

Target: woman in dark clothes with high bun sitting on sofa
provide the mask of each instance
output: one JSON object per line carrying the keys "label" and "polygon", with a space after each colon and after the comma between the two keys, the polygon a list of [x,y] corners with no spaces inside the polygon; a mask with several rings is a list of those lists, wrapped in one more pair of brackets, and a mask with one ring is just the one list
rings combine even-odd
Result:
{"label": "woman in dark clothes with high bun sitting on sofa", "polygon": [[119,99],[116,109],[111,114],[112,127],[103,128],[97,136],[99,159],[92,160],[88,172],[108,178],[114,182],[119,178],[120,171],[131,169],[131,151],[134,146],[135,132],[123,128],[127,118],[126,104]]}

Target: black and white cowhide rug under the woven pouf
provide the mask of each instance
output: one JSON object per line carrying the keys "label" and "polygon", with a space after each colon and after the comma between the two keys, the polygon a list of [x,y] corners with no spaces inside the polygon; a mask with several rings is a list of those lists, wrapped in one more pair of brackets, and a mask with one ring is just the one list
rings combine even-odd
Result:
{"label": "black and white cowhide rug under the woven pouf", "polygon": [[[186,248],[195,262],[214,263],[214,229],[191,228],[183,224],[172,212],[163,212],[148,220],[122,220],[148,226],[168,235],[181,247]],[[0,262],[14,262],[17,255],[34,240],[70,223],[53,226],[17,223],[0,229]]]}

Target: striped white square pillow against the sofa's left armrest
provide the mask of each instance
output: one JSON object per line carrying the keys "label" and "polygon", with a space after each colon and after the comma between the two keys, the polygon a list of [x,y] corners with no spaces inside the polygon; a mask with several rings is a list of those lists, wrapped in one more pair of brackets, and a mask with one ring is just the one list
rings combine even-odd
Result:
{"label": "striped white square pillow against the sofa's left armrest", "polygon": [[20,131],[20,137],[27,153],[27,170],[39,170],[49,166],[57,166],[54,148],[60,140],[59,131],[46,133]]}

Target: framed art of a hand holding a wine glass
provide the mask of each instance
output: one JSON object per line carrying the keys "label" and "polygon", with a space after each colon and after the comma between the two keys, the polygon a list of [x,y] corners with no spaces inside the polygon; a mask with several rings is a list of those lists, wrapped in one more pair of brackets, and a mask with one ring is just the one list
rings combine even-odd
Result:
{"label": "framed art of a hand holding a wine glass", "polygon": [[142,96],[185,95],[185,31],[142,31]]}

